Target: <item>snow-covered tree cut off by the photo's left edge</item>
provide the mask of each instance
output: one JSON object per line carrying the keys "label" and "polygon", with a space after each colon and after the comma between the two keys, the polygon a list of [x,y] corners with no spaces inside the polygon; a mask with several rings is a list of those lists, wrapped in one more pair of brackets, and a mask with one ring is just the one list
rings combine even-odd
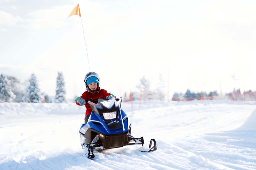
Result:
{"label": "snow-covered tree cut off by the photo's left edge", "polygon": [[0,75],[0,100],[3,102],[12,102],[15,99],[12,92],[11,82],[6,75]]}

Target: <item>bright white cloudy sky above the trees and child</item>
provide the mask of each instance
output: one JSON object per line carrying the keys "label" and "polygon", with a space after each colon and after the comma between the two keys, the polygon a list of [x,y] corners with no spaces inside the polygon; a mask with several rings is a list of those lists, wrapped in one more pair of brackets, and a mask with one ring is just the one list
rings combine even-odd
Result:
{"label": "bright white cloudy sky above the trees and child", "polygon": [[[77,4],[81,17],[67,18]],[[116,96],[143,76],[154,89],[159,74],[170,99],[187,89],[256,91],[255,8],[253,0],[0,0],[0,73],[21,81],[34,73],[55,96],[62,71],[70,99],[86,90],[89,71]]]}

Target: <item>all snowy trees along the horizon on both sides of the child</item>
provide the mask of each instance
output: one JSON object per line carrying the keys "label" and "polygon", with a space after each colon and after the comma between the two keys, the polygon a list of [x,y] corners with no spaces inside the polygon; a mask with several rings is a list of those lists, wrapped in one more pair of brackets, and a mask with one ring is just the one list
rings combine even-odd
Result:
{"label": "all snowy trees along the horizon on both sides of the child", "polygon": [[[162,75],[159,74],[159,79],[155,83],[154,88],[151,88],[151,82],[143,76],[140,79],[139,84],[136,86],[136,90],[131,91],[132,100],[167,100],[167,86],[163,80]],[[65,99],[65,82],[62,72],[58,72],[56,78],[56,95],[54,103],[66,103]],[[175,92],[173,97],[184,98],[201,98],[218,96],[217,91],[210,92],[191,92],[189,89],[185,94]],[[242,100],[240,90],[226,94],[231,100]],[[246,92],[246,99],[250,101],[256,100],[256,92]],[[27,102],[27,103],[52,103],[51,99],[46,93],[40,92],[38,81],[34,73],[31,74],[29,81],[24,83],[20,82],[13,76],[0,75],[0,101],[3,102]],[[123,101],[130,101],[130,95],[125,94]]]}

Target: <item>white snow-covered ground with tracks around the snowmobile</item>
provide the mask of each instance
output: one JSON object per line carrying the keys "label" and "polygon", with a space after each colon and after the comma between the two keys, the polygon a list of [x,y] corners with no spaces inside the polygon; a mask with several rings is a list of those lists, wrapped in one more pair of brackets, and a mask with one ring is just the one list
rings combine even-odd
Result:
{"label": "white snow-covered ground with tracks around the snowmobile", "polygon": [[85,108],[73,103],[0,103],[0,170],[256,169],[256,102],[205,100],[122,103],[139,145],[83,155]]}

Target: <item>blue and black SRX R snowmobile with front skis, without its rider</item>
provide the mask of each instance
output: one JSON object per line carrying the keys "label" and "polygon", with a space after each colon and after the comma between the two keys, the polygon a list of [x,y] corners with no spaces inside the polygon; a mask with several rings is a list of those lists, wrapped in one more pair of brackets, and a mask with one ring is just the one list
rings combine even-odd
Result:
{"label": "blue and black SRX R snowmobile with front skis, without its rider", "polygon": [[[134,138],[131,135],[132,124],[121,110],[121,102],[122,98],[116,99],[115,97],[88,101],[93,111],[87,124],[83,124],[79,130],[80,143],[88,158],[95,157],[93,154],[95,149],[104,150],[135,144],[143,146],[143,137]],[[149,148],[140,151],[151,152],[156,149],[156,141],[151,139]]]}

